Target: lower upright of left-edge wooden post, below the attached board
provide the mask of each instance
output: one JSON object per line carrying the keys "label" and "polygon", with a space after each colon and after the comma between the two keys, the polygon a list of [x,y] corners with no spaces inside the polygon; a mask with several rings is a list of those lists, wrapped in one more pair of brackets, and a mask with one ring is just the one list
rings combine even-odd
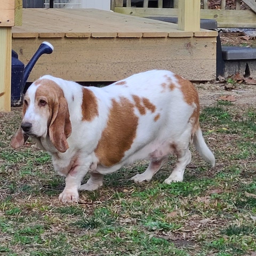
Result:
{"label": "lower upright of left-edge wooden post, below the attached board", "polygon": [[0,111],[11,111],[12,28],[0,27]]}

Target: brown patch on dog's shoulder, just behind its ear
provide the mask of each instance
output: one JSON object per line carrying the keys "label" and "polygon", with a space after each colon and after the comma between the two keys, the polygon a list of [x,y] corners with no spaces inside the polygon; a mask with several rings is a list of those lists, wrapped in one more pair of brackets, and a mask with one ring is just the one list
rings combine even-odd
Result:
{"label": "brown patch on dog's shoulder, just behind its ear", "polygon": [[86,88],[83,88],[82,115],[83,121],[92,121],[95,116],[99,116],[97,99],[94,93]]}

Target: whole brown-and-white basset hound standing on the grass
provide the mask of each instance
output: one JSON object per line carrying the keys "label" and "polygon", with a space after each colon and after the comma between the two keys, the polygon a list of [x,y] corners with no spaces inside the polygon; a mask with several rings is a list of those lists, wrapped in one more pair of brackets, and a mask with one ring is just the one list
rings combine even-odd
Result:
{"label": "whole brown-and-white basset hound standing on the grass", "polygon": [[[77,202],[78,190],[94,190],[103,176],[148,159],[147,170],[131,179],[150,181],[177,155],[170,184],[183,180],[193,143],[206,162],[215,158],[199,126],[198,94],[191,82],[166,70],[132,75],[105,87],[84,87],[50,75],[30,85],[22,123],[11,141],[19,148],[28,137],[52,156],[66,177],[62,202]],[[90,179],[81,185],[87,172]]]}

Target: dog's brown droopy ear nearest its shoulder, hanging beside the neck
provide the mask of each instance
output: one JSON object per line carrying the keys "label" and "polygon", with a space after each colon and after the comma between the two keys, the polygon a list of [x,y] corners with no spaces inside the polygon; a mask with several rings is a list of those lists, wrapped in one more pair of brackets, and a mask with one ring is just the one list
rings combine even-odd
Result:
{"label": "dog's brown droopy ear nearest its shoulder, hanging beside the neck", "polygon": [[62,95],[55,99],[52,109],[52,119],[49,126],[49,136],[53,146],[61,153],[69,148],[67,138],[72,131],[69,119],[68,103]]}

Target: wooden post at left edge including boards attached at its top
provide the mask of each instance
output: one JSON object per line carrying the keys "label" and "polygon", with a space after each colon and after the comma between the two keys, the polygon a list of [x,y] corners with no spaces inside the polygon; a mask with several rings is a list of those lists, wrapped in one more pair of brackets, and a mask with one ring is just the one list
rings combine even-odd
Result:
{"label": "wooden post at left edge including boards attached at its top", "polygon": [[[21,0],[0,2],[0,111],[11,111],[12,27],[21,25]],[[15,23],[15,17],[19,19]]]}

